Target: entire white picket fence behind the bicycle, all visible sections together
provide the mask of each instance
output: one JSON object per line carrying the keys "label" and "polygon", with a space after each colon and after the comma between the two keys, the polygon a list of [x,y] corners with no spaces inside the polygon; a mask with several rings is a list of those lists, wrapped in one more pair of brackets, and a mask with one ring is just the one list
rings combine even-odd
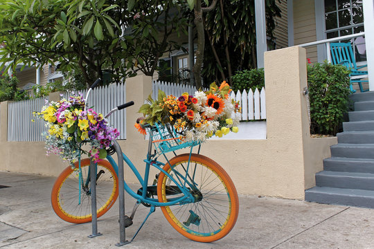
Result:
{"label": "entire white picket fence behind the bicycle, all visible sections together", "polygon": [[[167,95],[175,95],[179,97],[182,93],[193,95],[196,88],[193,86],[179,86],[178,84],[170,84],[164,82],[153,82],[152,98],[158,98],[159,89]],[[204,89],[206,91],[206,89]],[[87,90],[79,93],[64,93],[64,98],[70,95],[82,94],[85,97]],[[231,98],[240,102],[242,107],[241,120],[265,120],[265,89],[261,91],[249,90],[239,91],[235,94],[231,92]],[[20,102],[10,102],[8,105],[8,141],[41,141],[41,134],[45,131],[44,122],[39,118],[33,117],[33,111],[41,111],[45,100],[48,98],[39,98],[35,100],[24,100]],[[109,86],[100,86],[91,91],[88,99],[88,107],[93,107],[98,113],[104,115],[114,107],[126,102],[125,84],[111,84]],[[32,122],[31,120],[35,120]],[[118,139],[126,138],[126,115],[125,110],[116,111],[108,118],[109,124],[120,131]]]}

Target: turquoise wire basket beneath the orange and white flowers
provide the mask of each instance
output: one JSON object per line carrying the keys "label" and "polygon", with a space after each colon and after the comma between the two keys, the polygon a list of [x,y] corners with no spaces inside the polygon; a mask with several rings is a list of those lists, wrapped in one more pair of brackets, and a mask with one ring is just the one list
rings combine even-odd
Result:
{"label": "turquoise wire basket beneath the orange and white flowers", "polygon": [[157,150],[157,154],[165,154],[177,149],[199,145],[199,142],[196,141],[186,141],[170,124],[155,123],[148,128],[147,133],[152,136],[152,143]]}

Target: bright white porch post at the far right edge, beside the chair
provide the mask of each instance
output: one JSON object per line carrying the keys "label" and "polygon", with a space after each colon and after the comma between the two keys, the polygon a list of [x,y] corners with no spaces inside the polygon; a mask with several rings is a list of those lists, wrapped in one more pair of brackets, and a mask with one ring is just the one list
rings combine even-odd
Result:
{"label": "bright white porch post at the far right edge, beside the chair", "polygon": [[374,3],[373,0],[364,0],[363,3],[369,91],[374,91]]}

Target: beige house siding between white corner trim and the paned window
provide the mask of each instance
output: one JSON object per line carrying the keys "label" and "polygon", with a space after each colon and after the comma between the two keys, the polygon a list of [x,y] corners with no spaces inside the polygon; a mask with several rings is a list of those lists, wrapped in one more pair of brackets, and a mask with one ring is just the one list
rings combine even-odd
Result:
{"label": "beige house siding between white corner trim and the paned window", "polygon": [[[317,41],[316,15],[314,0],[298,0],[293,2],[294,8],[294,45]],[[306,48],[307,58],[317,62],[317,46]]]}

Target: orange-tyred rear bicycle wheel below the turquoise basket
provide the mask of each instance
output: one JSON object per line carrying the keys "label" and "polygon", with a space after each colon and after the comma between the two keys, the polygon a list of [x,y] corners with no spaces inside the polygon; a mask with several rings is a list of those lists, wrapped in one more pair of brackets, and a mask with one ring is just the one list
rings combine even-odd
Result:
{"label": "orange-tyred rear bicycle wheel below the turquoise basket", "polygon": [[[222,239],[233,229],[239,213],[238,193],[220,165],[206,156],[182,154],[172,158],[163,169],[180,185],[186,185],[195,197],[193,203],[161,207],[173,228],[199,242]],[[169,177],[161,172],[157,183],[159,202],[181,195]]]}

